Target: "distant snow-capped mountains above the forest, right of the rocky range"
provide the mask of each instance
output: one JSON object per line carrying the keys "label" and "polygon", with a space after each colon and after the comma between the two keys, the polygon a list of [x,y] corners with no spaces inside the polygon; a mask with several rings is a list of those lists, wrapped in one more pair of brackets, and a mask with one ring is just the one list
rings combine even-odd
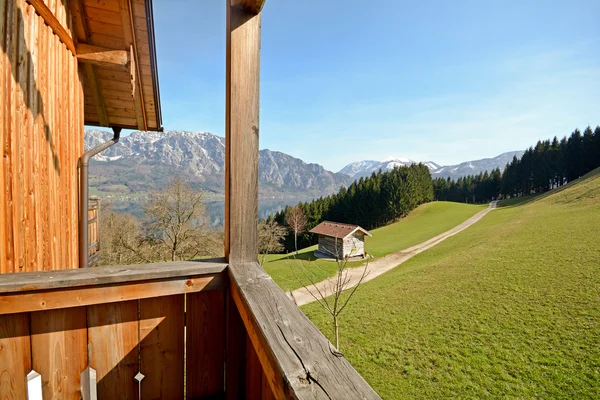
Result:
{"label": "distant snow-capped mountains above the forest, right of the rocky range", "polygon": [[[523,151],[511,151],[500,154],[494,158],[484,158],[481,160],[465,161],[457,165],[441,166],[433,161],[421,161],[431,171],[431,176],[434,178],[458,178],[467,175],[476,175],[484,171],[492,171],[500,168],[501,171],[507,163],[511,162],[514,156],[521,158]],[[373,172],[382,170],[390,171],[394,167],[416,164],[418,161],[406,158],[388,158],[382,161],[364,160],[357,161],[346,165],[339,172],[350,175],[354,179],[366,177]]]}

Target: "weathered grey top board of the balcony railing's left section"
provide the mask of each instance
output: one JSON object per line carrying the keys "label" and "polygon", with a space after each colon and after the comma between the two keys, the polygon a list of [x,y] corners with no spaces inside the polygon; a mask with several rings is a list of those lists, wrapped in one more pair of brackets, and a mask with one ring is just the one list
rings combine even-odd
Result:
{"label": "weathered grey top board of the balcony railing's left section", "polygon": [[222,259],[121,265],[72,271],[43,271],[0,275],[0,293],[102,286],[158,279],[212,276],[224,272]]}

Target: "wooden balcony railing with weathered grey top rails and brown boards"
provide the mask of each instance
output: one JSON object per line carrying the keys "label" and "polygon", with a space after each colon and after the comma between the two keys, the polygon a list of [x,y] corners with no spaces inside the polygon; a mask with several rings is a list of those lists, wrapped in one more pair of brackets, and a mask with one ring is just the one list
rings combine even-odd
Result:
{"label": "wooden balcony railing with weathered grey top rails and brown boards", "polygon": [[378,398],[257,263],[7,274],[0,292],[3,399],[32,370],[44,399]]}

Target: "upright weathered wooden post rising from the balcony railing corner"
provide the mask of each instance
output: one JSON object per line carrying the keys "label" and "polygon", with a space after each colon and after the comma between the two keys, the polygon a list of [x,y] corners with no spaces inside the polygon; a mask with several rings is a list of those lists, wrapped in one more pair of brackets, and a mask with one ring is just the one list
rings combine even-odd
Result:
{"label": "upright weathered wooden post rising from the balcony railing corner", "polygon": [[260,15],[227,7],[225,254],[257,260]]}

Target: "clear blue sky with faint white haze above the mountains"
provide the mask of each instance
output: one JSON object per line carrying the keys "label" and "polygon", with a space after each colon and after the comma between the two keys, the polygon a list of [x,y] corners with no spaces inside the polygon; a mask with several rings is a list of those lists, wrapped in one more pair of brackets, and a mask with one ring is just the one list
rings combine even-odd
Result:
{"label": "clear blue sky with faint white haze above the mountains", "polygon": [[[595,126],[599,15],[597,0],[267,0],[260,146],[337,171]],[[154,17],[165,129],[224,135],[225,2],[155,0]]]}

